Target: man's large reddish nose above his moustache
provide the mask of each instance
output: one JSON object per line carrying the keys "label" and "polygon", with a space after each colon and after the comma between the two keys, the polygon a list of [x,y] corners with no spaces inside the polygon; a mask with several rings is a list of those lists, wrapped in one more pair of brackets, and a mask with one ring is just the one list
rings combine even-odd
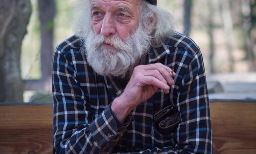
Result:
{"label": "man's large reddish nose above his moustache", "polygon": [[108,37],[108,36],[116,34],[115,23],[114,23],[114,20],[112,19],[111,15],[106,14],[104,16],[100,32],[105,37]]}

